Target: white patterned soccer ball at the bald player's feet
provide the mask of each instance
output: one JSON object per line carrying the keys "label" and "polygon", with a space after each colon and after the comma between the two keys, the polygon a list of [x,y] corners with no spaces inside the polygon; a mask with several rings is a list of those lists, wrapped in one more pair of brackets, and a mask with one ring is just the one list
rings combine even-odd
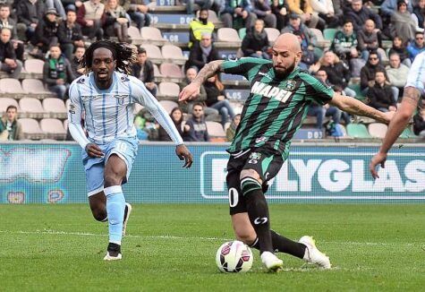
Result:
{"label": "white patterned soccer ball at the bald player's feet", "polygon": [[250,271],[253,259],[250,247],[237,240],[224,243],[216,254],[217,267],[223,272]]}

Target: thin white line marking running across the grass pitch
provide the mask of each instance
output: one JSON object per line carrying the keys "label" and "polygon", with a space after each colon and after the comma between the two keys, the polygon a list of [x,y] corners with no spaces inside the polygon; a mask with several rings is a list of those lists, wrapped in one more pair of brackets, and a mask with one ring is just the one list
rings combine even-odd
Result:
{"label": "thin white line marking running across the grass pitch", "polygon": [[[89,232],[68,232],[60,230],[35,230],[35,231],[12,231],[12,230],[0,230],[0,233],[5,234],[36,234],[36,235],[64,235],[64,236],[108,236],[107,234],[96,234]],[[151,238],[151,239],[179,239],[179,240],[220,240],[220,241],[231,241],[234,238],[223,238],[223,237],[202,237],[202,236],[137,236],[137,235],[126,235],[127,238]],[[421,243],[369,243],[369,242],[354,242],[354,241],[326,241],[320,240],[319,243],[326,245],[376,245],[376,246],[413,246],[422,245]]]}

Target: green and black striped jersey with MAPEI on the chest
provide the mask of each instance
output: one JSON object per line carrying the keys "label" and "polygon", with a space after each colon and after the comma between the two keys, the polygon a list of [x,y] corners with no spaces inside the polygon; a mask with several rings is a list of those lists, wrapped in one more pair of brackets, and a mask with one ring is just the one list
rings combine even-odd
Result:
{"label": "green and black striped jersey with MAPEI on the chest", "polygon": [[258,147],[283,153],[302,125],[310,103],[323,105],[334,95],[330,87],[298,67],[285,80],[279,79],[270,60],[243,57],[225,61],[222,68],[225,73],[245,76],[251,90],[228,149],[231,153]]}

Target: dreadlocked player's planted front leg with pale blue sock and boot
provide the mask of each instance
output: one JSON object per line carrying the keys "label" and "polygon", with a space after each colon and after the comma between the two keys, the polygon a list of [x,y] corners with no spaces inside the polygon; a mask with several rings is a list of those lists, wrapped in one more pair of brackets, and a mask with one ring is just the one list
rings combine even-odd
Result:
{"label": "dreadlocked player's planted front leg with pale blue sock and boot", "polygon": [[121,184],[127,173],[127,165],[116,154],[107,159],[104,173],[104,192],[108,214],[109,245],[104,260],[121,260],[121,240],[123,238],[123,219],[125,199]]}

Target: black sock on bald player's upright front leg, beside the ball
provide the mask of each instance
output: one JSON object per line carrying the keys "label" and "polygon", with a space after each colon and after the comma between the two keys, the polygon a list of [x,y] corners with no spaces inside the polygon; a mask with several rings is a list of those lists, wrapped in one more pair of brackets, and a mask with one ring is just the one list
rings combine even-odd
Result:
{"label": "black sock on bald player's upright front leg, beside the ball", "polygon": [[270,219],[268,217],[268,202],[261,190],[259,182],[251,177],[242,180],[243,196],[246,198],[246,209],[252,227],[259,237],[259,252],[273,253],[270,234]]}

